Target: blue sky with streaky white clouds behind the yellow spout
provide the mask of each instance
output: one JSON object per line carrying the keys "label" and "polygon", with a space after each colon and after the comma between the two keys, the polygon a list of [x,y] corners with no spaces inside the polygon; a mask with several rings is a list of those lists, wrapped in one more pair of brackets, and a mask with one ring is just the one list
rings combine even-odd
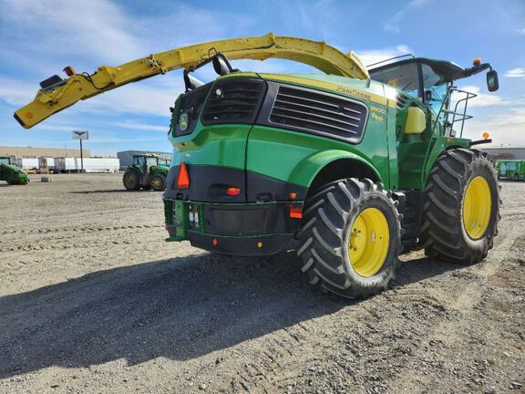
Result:
{"label": "blue sky with streaky white clouds behind the yellow spout", "polygon": [[[169,107],[182,91],[180,71],[118,88],[46,119],[32,130],[13,119],[38,82],[65,66],[92,73],[150,53],[236,36],[301,36],[365,64],[414,53],[469,67],[474,57],[499,71],[499,91],[485,77],[458,82],[479,93],[466,134],[489,131],[497,144],[525,145],[525,1],[169,1],[0,0],[0,145],[73,148],[71,130],[89,130],[94,154],[170,151]],[[297,72],[292,62],[236,62],[243,70]],[[204,71],[202,78],[211,78]]]}

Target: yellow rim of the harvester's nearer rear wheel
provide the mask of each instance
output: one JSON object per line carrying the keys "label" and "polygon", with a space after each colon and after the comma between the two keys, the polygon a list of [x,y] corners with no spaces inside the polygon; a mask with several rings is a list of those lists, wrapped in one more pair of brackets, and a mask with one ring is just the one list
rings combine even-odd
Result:
{"label": "yellow rim of the harvester's nearer rear wheel", "polygon": [[348,256],[361,276],[376,274],[385,263],[390,232],[385,215],[376,208],[366,208],[355,218],[348,238]]}

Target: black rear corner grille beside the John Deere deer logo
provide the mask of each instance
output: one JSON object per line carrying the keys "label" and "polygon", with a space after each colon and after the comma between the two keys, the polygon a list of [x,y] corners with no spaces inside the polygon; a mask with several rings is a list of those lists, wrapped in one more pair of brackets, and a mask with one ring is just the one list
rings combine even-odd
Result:
{"label": "black rear corner grille beside the John Deere deer logo", "polygon": [[253,123],[261,106],[265,84],[258,80],[226,80],[211,90],[202,123]]}

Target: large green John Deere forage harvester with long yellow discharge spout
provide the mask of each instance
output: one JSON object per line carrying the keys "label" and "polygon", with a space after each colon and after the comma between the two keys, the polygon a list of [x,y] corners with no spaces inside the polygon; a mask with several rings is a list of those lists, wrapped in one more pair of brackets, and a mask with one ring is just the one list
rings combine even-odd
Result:
{"label": "large green John Deere forage harvester with long yellow discharge spout", "polygon": [[[229,62],[268,57],[326,75],[241,72]],[[207,64],[219,78],[190,75]],[[404,251],[478,263],[498,233],[500,204],[492,163],[471,148],[490,140],[462,136],[475,95],[454,87],[489,69],[495,91],[496,70],[479,59],[467,68],[415,57],[374,66],[301,38],[215,41],[92,75],[66,67],[68,78],[43,81],[15,119],[29,129],[80,99],[184,68],[186,91],[171,109],[168,241],[216,254],[295,250],[311,284],[364,297],[386,288]],[[462,95],[455,106],[453,94]]]}

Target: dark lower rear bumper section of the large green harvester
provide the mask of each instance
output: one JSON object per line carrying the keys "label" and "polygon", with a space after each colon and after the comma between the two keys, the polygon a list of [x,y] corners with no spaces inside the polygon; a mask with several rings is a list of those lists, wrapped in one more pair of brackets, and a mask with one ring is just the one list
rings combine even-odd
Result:
{"label": "dark lower rear bumper section of the large green harvester", "polygon": [[217,254],[269,255],[294,248],[303,202],[209,203],[164,199],[167,241]]}

